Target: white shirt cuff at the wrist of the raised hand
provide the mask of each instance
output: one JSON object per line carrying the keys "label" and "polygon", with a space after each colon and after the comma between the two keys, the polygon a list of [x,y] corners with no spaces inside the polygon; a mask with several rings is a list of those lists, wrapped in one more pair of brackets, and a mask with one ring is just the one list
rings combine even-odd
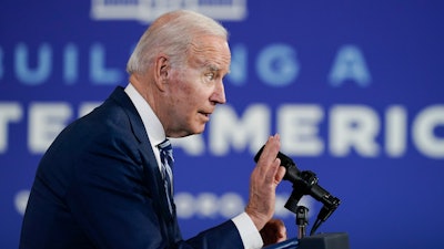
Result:
{"label": "white shirt cuff at the wrist of the raised hand", "polygon": [[234,217],[232,221],[238,228],[245,249],[259,249],[263,247],[261,234],[259,234],[256,226],[254,226],[253,220],[251,220],[246,212]]}

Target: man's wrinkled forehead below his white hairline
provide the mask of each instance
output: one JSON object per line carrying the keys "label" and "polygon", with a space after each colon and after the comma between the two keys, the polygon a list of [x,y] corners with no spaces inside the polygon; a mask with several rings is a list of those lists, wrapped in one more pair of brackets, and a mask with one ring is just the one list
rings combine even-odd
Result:
{"label": "man's wrinkled forehead below his white hairline", "polygon": [[231,53],[226,40],[219,37],[202,37],[191,43],[188,59],[191,66],[228,72]]}

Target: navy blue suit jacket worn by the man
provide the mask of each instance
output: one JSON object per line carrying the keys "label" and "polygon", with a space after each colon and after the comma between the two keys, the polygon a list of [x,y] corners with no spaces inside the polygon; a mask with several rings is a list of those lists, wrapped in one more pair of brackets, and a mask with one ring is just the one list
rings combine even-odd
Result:
{"label": "navy blue suit jacket worn by the man", "polygon": [[231,220],[183,240],[150,141],[122,87],[42,157],[20,249],[243,248]]}

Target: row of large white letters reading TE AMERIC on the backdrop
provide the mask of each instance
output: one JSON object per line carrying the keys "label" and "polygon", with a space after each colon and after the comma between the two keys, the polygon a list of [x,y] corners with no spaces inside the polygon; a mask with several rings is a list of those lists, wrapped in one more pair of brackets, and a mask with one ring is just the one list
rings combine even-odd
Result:
{"label": "row of large white letters reading TE AMERIC on the backdrop", "polygon": [[[74,113],[83,116],[99,104],[83,102],[75,110],[70,103],[38,102],[26,111],[18,102],[0,102],[0,154],[10,149],[11,125],[20,124],[24,113],[29,117],[28,149],[41,154]],[[315,104],[284,104],[278,106],[275,121],[271,113],[268,105],[259,103],[246,106],[242,115],[233,106],[219,106],[209,124],[208,136],[201,134],[172,142],[191,156],[204,153],[221,156],[245,149],[254,155],[273,126],[281,134],[281,151],[289,156],[320,156],[327,152],[333,157],[344,157],[354,152],[363,157],[377,157],[384,148],[389,157],[402,157],[411,145],[423,156],[444,158],[444,105],[425,106],[410,120],[412,124],[408,124],[406,106],[402,105],[381,111],[384,116],[371,106],[350,104],[334,105],[327,112]],[[321,133],[324,127],[325,134]]]}

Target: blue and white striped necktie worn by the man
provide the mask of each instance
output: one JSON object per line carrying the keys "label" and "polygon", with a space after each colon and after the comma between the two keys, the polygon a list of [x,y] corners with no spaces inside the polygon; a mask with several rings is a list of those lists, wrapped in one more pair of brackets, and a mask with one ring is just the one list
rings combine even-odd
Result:
{"label": "blue and white striped necktie worn by the man", "polygon": [[168,198],[168,205],[170,208],[170,214],[173,214],[173,173],[172,167],[174,163],[173,158],[173,147],[170,141],[167,138],[161,144],[158,145],[160,151],[160,160],[162,163],[162,178],[165,187],[165,194]]}

